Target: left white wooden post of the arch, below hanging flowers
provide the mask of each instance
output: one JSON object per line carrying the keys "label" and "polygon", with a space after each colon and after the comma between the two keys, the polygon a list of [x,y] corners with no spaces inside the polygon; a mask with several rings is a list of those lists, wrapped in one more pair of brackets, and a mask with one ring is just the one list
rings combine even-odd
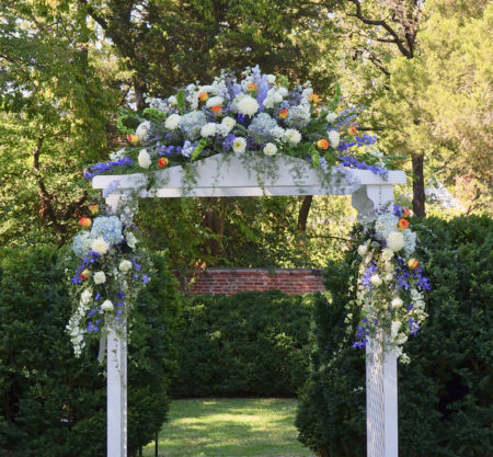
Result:
{"label": "left white wooden post of the arch, below hanging flowers", "polygon": [[[116,210],[121,195],[106,198]],[[127,322],[110,322],[106,359],[107,457],[127,457]]]}

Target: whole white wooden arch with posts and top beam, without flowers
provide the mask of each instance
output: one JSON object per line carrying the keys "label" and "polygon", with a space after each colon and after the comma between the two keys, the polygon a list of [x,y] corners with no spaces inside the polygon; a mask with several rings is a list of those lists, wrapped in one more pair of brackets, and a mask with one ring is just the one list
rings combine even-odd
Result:
{"label": "whole white wooden arch with posts and top beam, without flowers", "polygon": [[[254,170],[245,167],[248,161]],[[351,170],[351,179],[333,169],[329,184],[308,162],[280,156],[225,159],[218,155],[192,167],[193,182],[182,167],[173,167],[156,172],[153,191],[139,191],[139,197],[351,194],[358,218],[364,218],[393,201],[393,185],[405,183],[402,171],[390,171],[383,180],[367,170]],[[144,174],[100,175],[92,185],[103,190],[112,184],[106,204],[116,209],[145,183]],[[110,329],[107,335],[107,457],[127,457],[126,323],[122,325],[118,332]],[[370,341],[366,351],[367,457],[398,457],[397,357],[383,354],[381,341]]]}

